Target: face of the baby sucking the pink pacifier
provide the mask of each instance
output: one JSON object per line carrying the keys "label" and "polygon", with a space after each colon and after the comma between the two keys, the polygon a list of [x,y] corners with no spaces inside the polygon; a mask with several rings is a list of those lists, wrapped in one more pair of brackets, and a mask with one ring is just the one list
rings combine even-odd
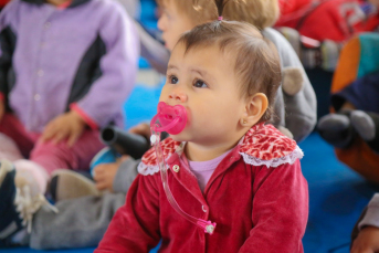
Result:
{"label": "face of the baby sucking the pink pacifier", "polygon": [[234,61],[218,46],[194,48],[186,54],[183,43],[175,46],[160,95],[160,101],[182,105],[188,113],[188,124],[172,136],[175,140],[214,148],[233,138],[245,109]]}

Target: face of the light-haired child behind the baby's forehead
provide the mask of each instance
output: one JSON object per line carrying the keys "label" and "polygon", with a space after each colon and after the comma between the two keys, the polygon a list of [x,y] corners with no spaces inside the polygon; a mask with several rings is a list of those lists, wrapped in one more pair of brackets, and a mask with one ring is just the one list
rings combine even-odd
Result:
{"label": "face of the light-haired child behind the baby's forehead", "polygon": [[[179,13],[175,2],[167,0],[162,8],[162,14],[158,20],[158,28],[162,31],[162,40],[169,51],[172,51],[180,35],[194,28],[194,22],[183,13]],[[187,1],[187,0],[186,0]]]}

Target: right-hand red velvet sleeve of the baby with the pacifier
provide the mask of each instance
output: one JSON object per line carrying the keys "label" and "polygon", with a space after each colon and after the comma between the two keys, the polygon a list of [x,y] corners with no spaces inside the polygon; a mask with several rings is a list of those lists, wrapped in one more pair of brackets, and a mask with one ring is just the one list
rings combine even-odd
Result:
{"label": "right-hand red velvet sleeve of the baby with the pacifier", "polygon": [[240,249],[244,252],[301,253],[308,219],[308,185],[299,160],[255,171],[254,228]]}

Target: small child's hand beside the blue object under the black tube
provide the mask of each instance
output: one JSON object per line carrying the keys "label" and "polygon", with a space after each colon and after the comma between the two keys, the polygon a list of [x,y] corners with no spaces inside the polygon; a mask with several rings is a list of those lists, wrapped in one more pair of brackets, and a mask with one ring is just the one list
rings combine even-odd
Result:
{"label": "small child's hand beside the blue object under the black tube", "polygon": [[94,168],[93,175],[97,190],[113,191],[113,180],[116,177],[118,167],[127,158],[128,156],[123,156],[116,162],[101,164]]}

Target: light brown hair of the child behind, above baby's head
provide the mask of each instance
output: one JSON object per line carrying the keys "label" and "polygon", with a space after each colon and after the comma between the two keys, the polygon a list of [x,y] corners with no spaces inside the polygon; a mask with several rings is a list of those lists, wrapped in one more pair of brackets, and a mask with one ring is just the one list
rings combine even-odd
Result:
{"label": "light brown hair of the child behind, above baby's head", "polygon": [[263,30],[273,25],[278,15],[277,0],[157,0],[158,4],[173,1],[181,13],[194,24],[217,20],[220,13],[224,19],[244,21]]}

